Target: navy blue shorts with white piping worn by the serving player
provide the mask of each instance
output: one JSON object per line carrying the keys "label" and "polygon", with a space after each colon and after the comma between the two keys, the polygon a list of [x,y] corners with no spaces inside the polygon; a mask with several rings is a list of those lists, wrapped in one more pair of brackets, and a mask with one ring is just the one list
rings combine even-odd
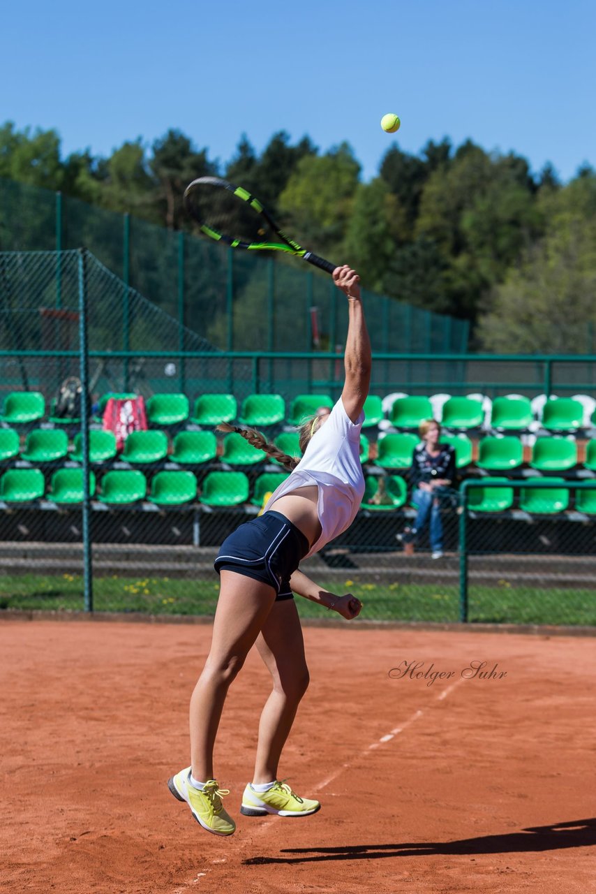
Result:
{"label": "navy blue shorts with white piping worn by the serving player", "polygon": [[277,600],[293,599],[290,578],[310,549],[304,534],[281,512],[264,512],[223,541],[214,569],[235,571],[273,586]]}

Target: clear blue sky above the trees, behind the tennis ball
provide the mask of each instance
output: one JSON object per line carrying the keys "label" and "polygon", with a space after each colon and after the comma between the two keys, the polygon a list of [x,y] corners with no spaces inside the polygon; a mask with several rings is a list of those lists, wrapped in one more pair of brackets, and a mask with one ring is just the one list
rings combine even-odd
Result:
{"label": "clear blue sky above the trees, behind the tennis ball", "polygon": [[[0,122],[108,155],[180,128],[222,162],[275,131],[348,140],[369,180],[394,139],[596,166],[593,0],[169,0],[4,5]],[[383,133],[382,114],[402,120]]]}

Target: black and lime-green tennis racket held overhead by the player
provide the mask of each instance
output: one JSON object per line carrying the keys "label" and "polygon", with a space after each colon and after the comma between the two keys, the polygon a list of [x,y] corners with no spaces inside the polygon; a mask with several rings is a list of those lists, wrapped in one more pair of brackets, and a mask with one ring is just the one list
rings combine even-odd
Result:
{"label": "black and lime-green tennis racket held overhead by the player", "polygon": [[284,251],[332,274],[337,264],[303,249],[275,223],[272,215],[248,190],[219,177],[199,177],[184,191],[184,207],[201,232],[232,249]]}

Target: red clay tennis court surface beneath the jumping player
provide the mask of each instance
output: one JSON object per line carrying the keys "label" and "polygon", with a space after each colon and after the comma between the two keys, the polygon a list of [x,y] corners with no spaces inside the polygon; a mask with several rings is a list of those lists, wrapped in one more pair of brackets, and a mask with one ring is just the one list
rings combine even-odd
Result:
{"label": "red clay tennis court surface beneath the jumping player", "polygon": [[[306,628],[312,682],[281,775],[323,809],[293,820],[239,814],[268,693],[251,654],[216,753],[238,822],[221,839],[166,787],[189,763],[210,635],[0,624],[0,890],[596,890],[593,638]],[[390,679],[404,660],[454,676]],[[474,660],[507,676],[461,679]]]}

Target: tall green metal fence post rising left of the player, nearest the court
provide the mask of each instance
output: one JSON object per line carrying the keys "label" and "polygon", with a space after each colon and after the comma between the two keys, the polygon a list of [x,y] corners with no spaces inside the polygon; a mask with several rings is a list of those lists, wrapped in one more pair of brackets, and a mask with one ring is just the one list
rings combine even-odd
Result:
{"label": "tall green metal fence post rising left of the player, nearest the court", "polygon": [[83,586],[85,611],[93,611],[93,566],[91,562],[91,529],[89,494],[89,403],[88,403],[88,339],[87,339],[87,251],[79,249],[79,356],[80,356],[80,434],[83,472]]}

